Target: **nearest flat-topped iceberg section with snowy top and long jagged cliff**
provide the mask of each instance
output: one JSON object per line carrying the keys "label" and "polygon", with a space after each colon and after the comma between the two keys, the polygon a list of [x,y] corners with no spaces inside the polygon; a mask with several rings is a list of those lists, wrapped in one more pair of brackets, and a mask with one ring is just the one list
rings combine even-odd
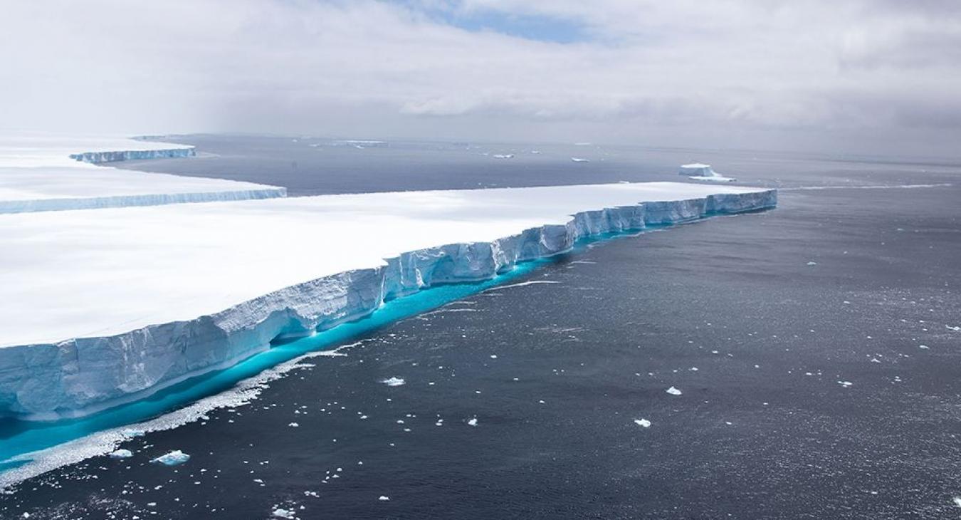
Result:
{"label": "nearest flat-topped iceberg section with snowy top and long jagged cliff", "polygon": [[580,237],[775,206],[646,183],[0,214],[0,414],[81,415]]}

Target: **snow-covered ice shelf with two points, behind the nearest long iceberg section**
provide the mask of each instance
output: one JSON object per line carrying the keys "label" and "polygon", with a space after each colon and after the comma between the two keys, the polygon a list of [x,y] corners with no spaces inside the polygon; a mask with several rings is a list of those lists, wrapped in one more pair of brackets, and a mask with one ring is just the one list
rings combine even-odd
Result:
{"label": "snow-covered ice shelf with two points, behind the nearest long iceberg section", "polygon": [[286,189],[105,163],[189,157],[192,146],[116,137],[0,136],[0,213],[283,197]]}

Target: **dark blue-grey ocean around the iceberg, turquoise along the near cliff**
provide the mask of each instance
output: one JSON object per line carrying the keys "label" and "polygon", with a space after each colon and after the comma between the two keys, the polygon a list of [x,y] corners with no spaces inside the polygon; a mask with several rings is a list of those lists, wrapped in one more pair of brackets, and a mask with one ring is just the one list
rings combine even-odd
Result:
{"label": "dark blue-grey ocean around the iceberg, turquoise along the near cliff", "polygon": [[[961,516],[957,161],[172,139],[199,156],[123,166],[299,196],[682,181],[678,164],[703,161],[782,190],[776,210],[609,237],[398,300],[139,409],[7,425],[8,445],[69,438],[340,346],[247,405],[124,443],[133,458],[18,484],[0,495],[2,518]],[[264,247],[283,268],[283,244]],[[191,458],[149,463],[171,450]]]}

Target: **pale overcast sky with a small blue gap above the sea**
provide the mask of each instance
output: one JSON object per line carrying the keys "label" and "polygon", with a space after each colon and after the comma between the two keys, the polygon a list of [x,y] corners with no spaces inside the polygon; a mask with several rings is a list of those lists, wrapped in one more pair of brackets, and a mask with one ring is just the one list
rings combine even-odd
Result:
{"label": "pale overcast sky with a small blue gap above the sea", "polygon": [[955,0],[10,0],[0,128],[959,155]]}

